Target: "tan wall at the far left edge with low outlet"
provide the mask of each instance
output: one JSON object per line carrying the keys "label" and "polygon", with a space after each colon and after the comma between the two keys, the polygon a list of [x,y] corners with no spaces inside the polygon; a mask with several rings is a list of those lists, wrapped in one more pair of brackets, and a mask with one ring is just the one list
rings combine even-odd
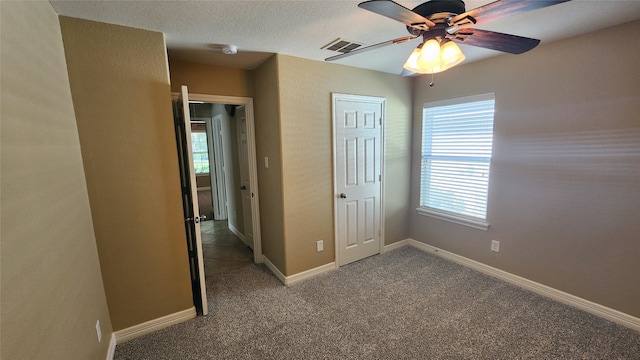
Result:
{"label": "tan wall at the far left edge with low outlet", "polygon": [[0,14],[0,358],[105,359],[112,329],[58,15],[48,1],[2,1]]}

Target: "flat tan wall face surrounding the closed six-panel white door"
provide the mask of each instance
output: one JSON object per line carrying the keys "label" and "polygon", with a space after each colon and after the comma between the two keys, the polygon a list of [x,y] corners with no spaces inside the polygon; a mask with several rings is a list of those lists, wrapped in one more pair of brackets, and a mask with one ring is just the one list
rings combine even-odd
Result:
{"label": "flat tan wall face surrounding the closed six-panel white door", "polygon": [[[285,275],[335,259],[331,93],[386,98],[385,242],[408,237],[411,81],[285,55],[278,58]],[[324,251],[316,252],[316,241]],[[282,271],[282,269],[281,269]]]}

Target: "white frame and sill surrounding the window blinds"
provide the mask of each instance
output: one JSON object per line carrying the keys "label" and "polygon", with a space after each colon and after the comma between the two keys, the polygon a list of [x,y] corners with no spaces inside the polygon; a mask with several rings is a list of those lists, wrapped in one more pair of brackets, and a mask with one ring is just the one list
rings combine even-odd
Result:
{"label": "white frame and sill surrounding the window blinds", "polygon": [[[465,215],[462,213],[458,213],[458,212],[453,212],[453,211],[448,211],[448,210],[444,210],[444,209],[439,209],[439,208],[435,208],[435,207],[428,207],[428,206],[423,206],[422,205],[422,196],[423,196],[423,175],[425,173],[425,169],[424,167],[427,166],[425,165],[425,160],[427,159],[427,156],[425,155],[425,151],[424,151],[424,144],[425,141],[431,142],[431,138],[429,139],[425,139],[425,134],[424,134],[424,129],[425,129],[425,121],[426,121],[426,111],[427,109],[430,108],[436,108],[436,107],[442,107],[442,106],[451,106],[451,105],[462,105],[462,104],[468,104],[468,103],[473,103],[473,102],[478,102],[478,101],[488,101],[488,100],[492,100],[493,101],[493,117],[491,120],[491,151],[490,151],[490,155],[488,157],[488,160],[486,161],[480,161],[482,163],[486,163],[487,164],[487,176],[486,176],[486,196],[484,198],[484,207],[485,207],[485,215],[484,218],[478,218],[475,216],[469,216],[469,215]],[[420,182],[419,182],[419,197],[418,197],[418,208],[416,208],[416,211],[418,212],[418,214],[420,215],[424,215],[424,216],[429,216],[429,217],[433,217],[436,219],[440,219],[440,220],[445,220],[445,221],[449,221],[449,222],[453,222],[456,224],[460,224],[460,225],[465,225],[465,226],[469,226],[472,228],[476,228],[476,229],[480,229],[480,230],[487,230],[490,226],[489,222],[488,222],[488,214],[489,214],[489,185],[490,185],[490,172],[491,172],[491,162],[493,159],[493,134],[494,134],[494,123],[495,123],[495,93],[494,92],[490,92],[490,93],[484,93],[484,94],[477,94],[477,95],[470,95],[470,96],[464,96],[464,97],[458,97],[458,98],[452,98],[452,99],[445,99],[445,100],[437,100],[437,101],[430,101],[430,102],[425,102],[422,108],[422,122],[421,122],[421,144],[420,144]],[[460,156],[460,158],[464,158],[466,156]],[[472,161],[478,161],[479,158],[481,159],[485,159],[487,158],[485,155],[483,156],[469,156],[468,157],[469,160],[473,159]],[[469,161],[468,160],[468,161]],[[463,160],[457,159],[457,160],[441,160],[441,161],[451,161],[451,162],[462,162]]]}

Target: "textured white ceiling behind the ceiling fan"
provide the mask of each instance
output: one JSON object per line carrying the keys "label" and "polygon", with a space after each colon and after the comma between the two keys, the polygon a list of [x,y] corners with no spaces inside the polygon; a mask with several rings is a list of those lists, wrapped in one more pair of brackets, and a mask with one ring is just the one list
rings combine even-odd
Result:
{"label": "textured white ceiling behind the ceiling fan", "polygon": [[[403,24],[357,7],[361,0],[62,1],[58,14],[163,32],[178,60],[253,69],[272,53],[323,61],[337,53],[321,47],[336,38],[365,45],[407,36]],[[396,0],[414,8],[422,0]],[[467,0],[467,10],[492,1]],[[541,39],[543,43],[640,19],[640,0],[573,0],[480,28]],[[638,34],[621,34],[638,41]],[[418,40],[336,61],[400,74]],[[237,55],[223,55],[235,44]],[[466,63],[502,54],[461,46]],[[532,50],[532,51],[535,51]],[[505,55],[517,56],[517,55]],[[464,64],[464,63],[463,63]]]}

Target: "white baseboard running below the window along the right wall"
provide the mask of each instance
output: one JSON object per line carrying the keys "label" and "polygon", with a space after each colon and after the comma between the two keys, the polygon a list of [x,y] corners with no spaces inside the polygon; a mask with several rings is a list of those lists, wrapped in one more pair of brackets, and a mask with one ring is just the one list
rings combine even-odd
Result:
{"label": "white baseboard running below the window along the right wall", "polygon": [[[601,318],[607,319],[609,321],[615,322],[617,324],[626,326],[630,329],[640,331],[640,318],[637,318],[629,314],[625,314],[621,311],[608,308],[604,305],[600,305],[592,301],[568,294],[566,292],[520,277],[518,275],[511,274],[509,272],[494,268],[492,266],[483,264],[481,262],[471,260],[464,256],[460,256],[460,255],[439,249],[435,246],[427,245],[420,241],[416,241],[413,239],[405,239],[400,241],[399,243],[394,243],[389,245],[389,249],[390,250],[398,249],[402,246],[413,246],[422,251],[453,261],[455,263],[469,267],[471,269],[487,274],[489,276],[493,276],[495,278],[506,281],[510,284],[516,285],[523,289],[532,291],[536,294],[542,295],[552,300],[561,302],[569,306],[573,306],[580,310],[586,311],[590,314],[593,314]],[[389,251],[387,250],[386,246],[385,246],[385,251]]]}

